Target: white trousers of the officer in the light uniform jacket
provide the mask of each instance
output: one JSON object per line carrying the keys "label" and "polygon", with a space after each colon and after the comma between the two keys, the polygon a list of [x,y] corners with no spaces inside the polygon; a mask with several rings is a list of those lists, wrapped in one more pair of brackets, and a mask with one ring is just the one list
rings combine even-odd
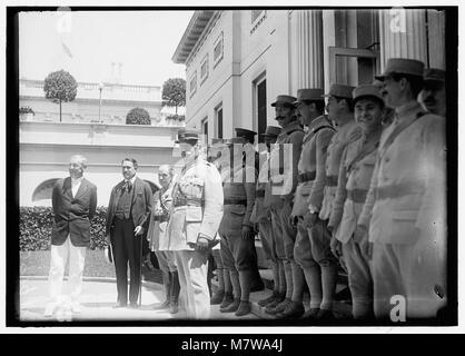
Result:
{"label": "white trousers of the officer in the light uniform jacket", "polygon": [[210,293],[208,290],[208,258],[197,250],[175,251],[181,295],[185,296],[187,317],[210,317]]}

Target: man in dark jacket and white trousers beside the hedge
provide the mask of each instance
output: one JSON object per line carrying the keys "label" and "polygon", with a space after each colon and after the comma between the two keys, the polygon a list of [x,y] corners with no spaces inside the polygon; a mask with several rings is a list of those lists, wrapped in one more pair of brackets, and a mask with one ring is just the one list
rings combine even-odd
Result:
{"label": "man in dark jacket and white trousers beside the hedge", "polygon": [[50,303],[44,310],[47,317],[52,316],[63,301],[61,289],[68,256],[71,312],[79,314],[81,310],[79,295],[82,289],[86,247],[90,243],[90,219],[97,206],[97,187],[83,178],[86,168],[86,157],[72,156],[69,164],[70,177],[58,179],[53,186],[51,200],[55,220],[49,273]]}

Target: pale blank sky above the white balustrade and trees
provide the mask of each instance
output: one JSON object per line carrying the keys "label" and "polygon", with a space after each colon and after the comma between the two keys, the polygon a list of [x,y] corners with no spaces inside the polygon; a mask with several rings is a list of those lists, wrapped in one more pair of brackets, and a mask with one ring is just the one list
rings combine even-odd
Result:
{"label": "pale blank sky above the white balustrade and trees", "polygon": [[66,69],[79,82],[105,82],[111,79],[112,62],[122,65],[122,83],[162,86],[169,78],[186,78],[186,66],[175,65],[171,57],[192,13],[21,12],[20,78],[43,80],[49,72]]}

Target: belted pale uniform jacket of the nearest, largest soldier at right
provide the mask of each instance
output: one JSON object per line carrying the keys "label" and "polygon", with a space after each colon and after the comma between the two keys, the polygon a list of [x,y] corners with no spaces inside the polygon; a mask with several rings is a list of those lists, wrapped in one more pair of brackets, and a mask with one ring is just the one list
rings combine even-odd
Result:
{"label": "belted pale uniform jacket of the nearest, largest soldier at right", "polygon": [[[389,136],[403,127],[389,145]],[[369,240],[415,244],[421,230],[445,220],[445,120],[412,101],[396,109],[385,129],[359,225],[369,226]],[[409,187],[408,194],[377,199],[376,189]],[[395,189],[399,190],[399,189]],[[368,224],[369,220],[369,224]]]}

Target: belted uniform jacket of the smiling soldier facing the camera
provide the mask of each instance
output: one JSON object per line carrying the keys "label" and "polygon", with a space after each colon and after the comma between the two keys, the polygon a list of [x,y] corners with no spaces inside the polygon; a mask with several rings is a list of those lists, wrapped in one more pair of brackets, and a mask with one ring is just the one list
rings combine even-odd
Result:
{"label": "belted uniform jacket of the smiling soldier facing the camera", "polygon": [[374,132],[369,139],[363,135],[349,142],[343,152],[328,226],[336,230],[336,238],[344,244],[353,236],[364,206],[364,201],[347,199],[347,190],[368,192],[380,134],[382,130]]}

